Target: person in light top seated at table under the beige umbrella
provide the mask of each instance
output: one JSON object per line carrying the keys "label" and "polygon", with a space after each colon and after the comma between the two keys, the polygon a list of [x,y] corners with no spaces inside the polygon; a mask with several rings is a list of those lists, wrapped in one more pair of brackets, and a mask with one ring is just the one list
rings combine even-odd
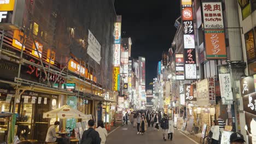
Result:
{"label": "person in light top seated at table under the beige umbrella", "polygon": [[54,125],[51,125],[51,127],[49,127],[49,129],[48,129],[48,131],[47,131],[46,139],[45,139],[46,142],[58,142],[58,143],[62,143],[62,138],[56,136],[55,128],[57,128],[58,125],[60,125],[60,122],[59,122],[59,121],[56,121],[56,122],[54,123]]}

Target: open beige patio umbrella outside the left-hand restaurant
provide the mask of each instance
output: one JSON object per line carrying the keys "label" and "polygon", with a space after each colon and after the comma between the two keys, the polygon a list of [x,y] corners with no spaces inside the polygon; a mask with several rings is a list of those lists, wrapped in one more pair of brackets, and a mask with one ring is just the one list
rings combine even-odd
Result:
{"label": "open beige patio umbrella outside the left-hand restaurant", "polygon": [[85,115],[84,113],[73,109],[68,105],[63,105],[59,109],[51,110],[43,113],[43,118],[88,118],[89,115]]}

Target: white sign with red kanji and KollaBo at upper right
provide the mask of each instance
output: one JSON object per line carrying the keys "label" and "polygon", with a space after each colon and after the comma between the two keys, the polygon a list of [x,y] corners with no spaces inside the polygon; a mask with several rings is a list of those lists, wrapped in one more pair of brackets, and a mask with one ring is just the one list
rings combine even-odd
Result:
{"label": "white sign with red kanji and KollaBo at upper right", "polygon": [[203,25],[205,29],[224,28],[222,3],[202,3]]}

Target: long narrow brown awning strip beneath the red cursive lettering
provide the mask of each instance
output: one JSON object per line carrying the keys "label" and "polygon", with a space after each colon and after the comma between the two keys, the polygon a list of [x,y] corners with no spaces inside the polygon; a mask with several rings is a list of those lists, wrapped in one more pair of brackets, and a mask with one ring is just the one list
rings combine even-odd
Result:
{"label": "long narrow brown awning strip beneath the red cursive lettering", "polygon": [[34,92],[42,92],[49,94],[75,95],[73,92],[68,92],[62,89],[42,87],[42,86],[20,86],[19,89],[25,89]]}

